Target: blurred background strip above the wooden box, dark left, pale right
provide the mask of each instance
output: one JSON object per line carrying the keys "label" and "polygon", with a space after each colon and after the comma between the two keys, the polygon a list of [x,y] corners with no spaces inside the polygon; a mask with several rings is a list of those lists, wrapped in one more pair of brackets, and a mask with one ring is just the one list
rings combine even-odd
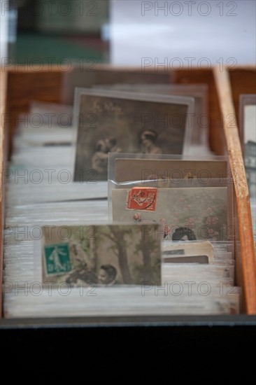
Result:
{"label": "blurred background strip above the wooden box, dark left, pale right", "polygon": [[15,63],[255,63],[255,0],[0,1],[1,57]]}

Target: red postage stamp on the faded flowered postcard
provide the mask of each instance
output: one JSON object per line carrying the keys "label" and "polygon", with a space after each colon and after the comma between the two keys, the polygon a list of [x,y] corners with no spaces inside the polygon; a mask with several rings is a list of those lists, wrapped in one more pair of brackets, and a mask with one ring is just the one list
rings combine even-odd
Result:
{"label": "red postage stamp on the faded flowered postcard", "polygon": [[156,211],[157,188],[134,187],[127,195],[127,209]]}

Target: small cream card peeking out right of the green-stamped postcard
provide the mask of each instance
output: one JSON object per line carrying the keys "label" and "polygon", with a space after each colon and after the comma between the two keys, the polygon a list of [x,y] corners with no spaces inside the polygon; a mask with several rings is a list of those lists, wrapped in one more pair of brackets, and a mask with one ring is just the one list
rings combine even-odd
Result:
{"label": "small cream card peeking out right of the green-stamped postcard", "polygon": [[172,263],[213,263],[213,245],[209,241],[164,242],[164,262]]}

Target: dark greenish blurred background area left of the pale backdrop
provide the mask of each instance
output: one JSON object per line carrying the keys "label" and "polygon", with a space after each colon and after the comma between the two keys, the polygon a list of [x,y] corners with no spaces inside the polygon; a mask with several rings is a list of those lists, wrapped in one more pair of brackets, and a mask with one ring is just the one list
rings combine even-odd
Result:
{"label": "dark greenish blurred background area left of the pale backdrop", "polygon": [[108,62],[108,0],[1,0],[2,20],[8,22],[8,57],[17,63],[91,57]]}

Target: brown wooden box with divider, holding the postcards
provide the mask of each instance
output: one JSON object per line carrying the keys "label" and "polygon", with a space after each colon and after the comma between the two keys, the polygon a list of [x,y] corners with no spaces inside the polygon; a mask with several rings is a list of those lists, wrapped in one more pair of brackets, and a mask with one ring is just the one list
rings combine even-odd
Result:
{"label": "brown wooden box with divider, holding the postcards", "polygon": [[[106,68],[106,67],[104,67]],[[110,68],[110,71],[119,69]],[[133,71],[141,71],[134,69]],[[29,102],[38,100],[44,102],[62,102],[62,83],[67,74],[57,68],[41,69],[40,71],[25,71],[22,68],[1,71],[1,179],[2,171],[6,169],[6,160],[11,151],[11,139],[15,132],[15,119],[19,113],[29,111]],[[44,318],[44,319],[1,319],[1,329],[10,330],[45,330],[50,333],[52,328],[66,330],[67,335],[87,335],[87,331],[95,330],[98,336],[110,338],[110,330],[121,333],[122,337],[138,337],[138,330],[144,330],[145,335],[160,337],[162,333],[173,337],[173,330],[180,339],[190,341],[191,326],[197,338],[207,335],[214,343],[217,328],[219,332],[230,330],[236,333],[243,327],[243,337],[250,339],[250,330],[255,325],[255,248],[253,241],[252,219],[246,173],[239,141],[239,94],[255,93],[255,68],[236,66],[232,70],[220,68],[173,70],[173,83],[206,83],[208,84],[208,111],[211,117],[209,143],[211,149],[218,155],[228,154],[234,177],[234,206],[235,206],[235,258],[236,279],[242,288],[242,314],[237,316],[145,316],[145,317],[84,317],[84,318]],[[8,121],[8,123],[6,123]],[[1,186],[3,186],[1,180]],[[4,189],[0,192],[1,203],[1,277],[3,267],[3,227],[4,227]],[[2,281],[1,281],[2,283]],[[1,287],[2,285],[0,285]],[[222,328],[220,330],[220,325]],[[106,328],[108,326],[108,328]],[[147,327],[145,331],[144,327]],[[128,329],[127,329],[128,328]],[[47,331],[48,330],[48,331]],[[108,330],[108,331],[107,331]],[[128,331],[127,331],[128,330]],[[165,330],[165,331],[164,331]],[[205,331],[207,330],[207,332]],[[226,331],[225,331],[226,330]],[[227,331],[228,330],[228,331]],[[206,334],[204,334],[206,332]],[[33,333],[32,333],[33,334]],[[22,336],[22,332],[19,334]],[[56,334],[57,335],[57,334]],[[97,335],[97,332],[92,332]],[[10,333],[8,334],[10,337]],[[108,336],[108,337],[107,337]],[[232,334],[233,336],[233,334]],[[161,337],[161,338],[162,338]],[[178,338],[177,337],[177,338]],[[178,344],[178,339],[175,340]],[[59,341],[59,339],[58,339]],[[60,346],[62,344],[58,342]],[[156,341],[155,341],[156,343]],[[229,341],[230,344],[230,341]],[[146,349],[146,348],[145,348]]]}

